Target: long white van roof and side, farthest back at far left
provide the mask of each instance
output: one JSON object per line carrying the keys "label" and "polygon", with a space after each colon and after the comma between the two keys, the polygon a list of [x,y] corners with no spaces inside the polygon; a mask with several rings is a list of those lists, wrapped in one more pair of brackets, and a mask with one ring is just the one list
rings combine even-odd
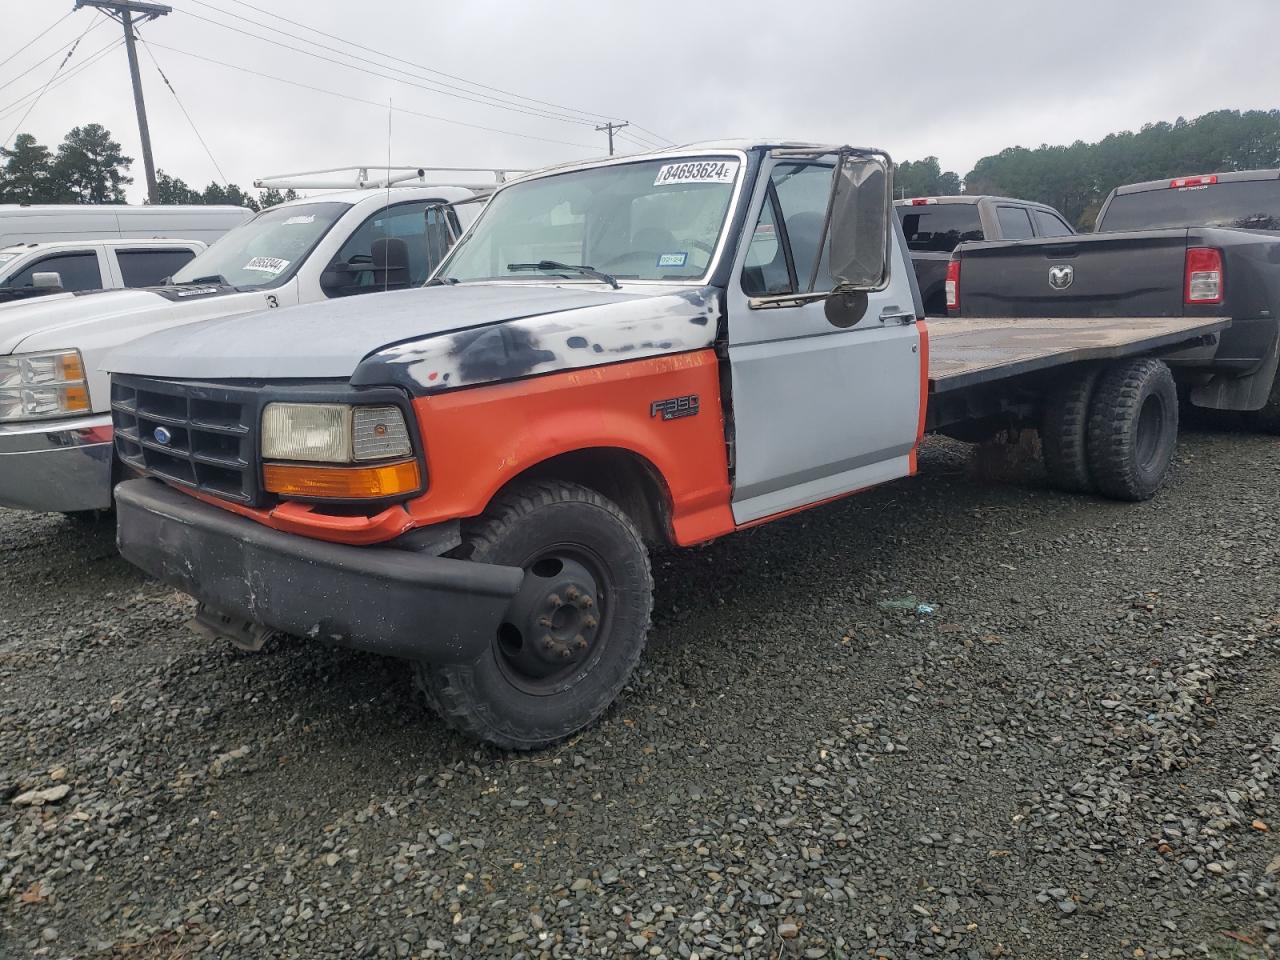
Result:
{"label": "long white van roof and side, farthest back at far left", "polygon": [[242,206],[0,204],[0,247],[65,239],[198,239],[212,243],[253,215]]}

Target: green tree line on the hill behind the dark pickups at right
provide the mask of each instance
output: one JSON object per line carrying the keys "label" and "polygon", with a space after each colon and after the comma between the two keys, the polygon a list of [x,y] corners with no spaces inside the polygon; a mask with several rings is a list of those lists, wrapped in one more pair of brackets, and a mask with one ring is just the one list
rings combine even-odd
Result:
{"label": "green tree line on the hill behind the dark pickups at right", "polygon": [[[1087,230],[1107,193],[1123,183],[1274,166],[1280,166],[1280,110],[1215,110],[1093,143],[1006,147],[974,164],[964,191],[1048,204]],[[899,196],[960,192],[960,177],[941,170],[934,156],[899,164],[895,177]]]}

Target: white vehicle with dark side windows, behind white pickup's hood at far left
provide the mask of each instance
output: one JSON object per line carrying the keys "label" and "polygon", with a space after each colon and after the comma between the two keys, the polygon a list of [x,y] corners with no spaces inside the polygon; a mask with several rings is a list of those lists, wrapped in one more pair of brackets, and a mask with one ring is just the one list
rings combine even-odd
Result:
{"label": "white vehicle with dark side windows, behind white pickup's hood at far left", "polygon": [[58,292],[156,287],[205,246],[201,241],[128,239],[0,247],[0,305]]}

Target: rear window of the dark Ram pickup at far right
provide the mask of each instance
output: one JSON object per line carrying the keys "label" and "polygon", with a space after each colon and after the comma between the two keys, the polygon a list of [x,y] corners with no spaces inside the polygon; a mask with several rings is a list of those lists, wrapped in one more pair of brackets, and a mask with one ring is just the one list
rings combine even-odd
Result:
{"label": "rear window of the dark Ram pickup at far right", "polygon": [[1158,227],[1280,230],[1280,180],[1233,180],[1117,193],[1098,221],[1098,230],[1112,232]]}

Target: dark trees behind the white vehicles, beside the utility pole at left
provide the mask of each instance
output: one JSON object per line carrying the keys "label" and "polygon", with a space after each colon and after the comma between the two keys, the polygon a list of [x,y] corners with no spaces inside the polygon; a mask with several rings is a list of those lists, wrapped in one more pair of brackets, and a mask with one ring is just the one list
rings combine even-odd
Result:
{"label": "dark trees behind the white vehicles, beside the utility pole at left", "polygon": [[[19,133],[13,147],[0,147],[0,204],[124,204],[133,157],[97,123],[73,128],[51,151],[29,133]],[[161,204],[230,204],[264,210],[294,191],[253,193],[234,183],[210,183],[195,189],[184,180],[156,170]]]}

